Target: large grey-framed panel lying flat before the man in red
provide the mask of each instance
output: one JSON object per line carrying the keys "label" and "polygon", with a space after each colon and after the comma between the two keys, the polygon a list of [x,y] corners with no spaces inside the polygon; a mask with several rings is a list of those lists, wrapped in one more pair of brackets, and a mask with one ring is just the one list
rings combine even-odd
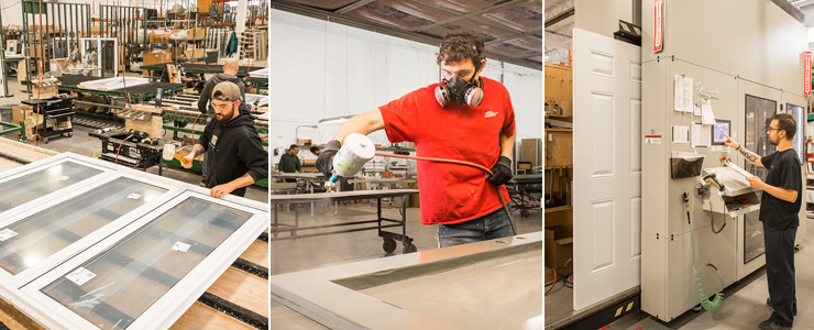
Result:
{"label": "large grey-framed panel lying flat before the man in red", "polygon": [[534,232],[268,282],[273,299],[329,329],[542,329],[542,270]]}

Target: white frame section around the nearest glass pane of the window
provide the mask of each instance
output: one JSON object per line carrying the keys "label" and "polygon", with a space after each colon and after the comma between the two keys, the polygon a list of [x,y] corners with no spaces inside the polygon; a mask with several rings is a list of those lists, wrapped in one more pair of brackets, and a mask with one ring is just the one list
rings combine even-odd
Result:
{"label": "white frame section around the nearest glass pane of the window", "polygon": [[[207,190],[208,193],[208,190]],[[67,307],[46,296],[41,290],[52,283],[75,271],[86,262],[96,256],[114,249],[120,242],[130,238],[131,234],[142,227],[150,224],[153,220],[172,210],[177,205],[189,198],[198,198],[212,204],[218,204],[235,210],[251,213],[249,220],[235,232],[218,245],[208,256],[198,263],[180,280],[162,295],[162,297],[147,308],[133,321],[128,329],[166,329],[169,328],[206,289],[245,251],[249,245],[268,226],[268,213],[262,210],[262,205],[252,205],[250,201],[234,202],[217,199],[201,193],[185,191],[168,202],[154,209],[136,221],[130,223],[122,230],[117,231],[75,255],[65,263],[51,270],[43,276],[23,286],[20,289],[21,299],[16,307],[32,317],[41,324],[55,329],[98,329],[81,316],[73,312]],[[249,206],[248,206],[249,205]]]}

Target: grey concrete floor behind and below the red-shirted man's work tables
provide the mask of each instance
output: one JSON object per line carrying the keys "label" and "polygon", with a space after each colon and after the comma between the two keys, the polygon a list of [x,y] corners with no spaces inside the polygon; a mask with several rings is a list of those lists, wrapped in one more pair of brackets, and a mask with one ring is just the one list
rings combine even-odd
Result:
{"label": "grey concrete floor behind and below the red-shirted man's work tables", "polygon": [[[387,202],[383,202],[382,205],[383,217],[400,219],[400,208],[392,207]],[[361,221],[375,219],[376,217],[375,204],[371,202],[349,205],[342,205],[340,202],[336,216],[336,208],[332,204],[317,205],[314,217],[310,216],[309,205],[300,205],[299,208],[300,227],[333,224],[353,220]],[[285,206],[280,206],[277,213],[280,223],[293,223],[293,209],[286,210]],[[541,211],[531,211],[529,218],[520,218],[520,212],[517,210],[515,210],[514,215],[518,233],[542,230]],[[274,211],[272,211],[272,217],[274,217]],[[389,230],[400,232],[400,228],[391,228]],[[407,235],[414,239],[413,243],[418,248],[418,251],[438,249],[437,231],[438,226],[421,226],[419,208],[407,208]],[[287,237],[287,233],[280,234],[280,238],[284,235]],[[270,275],[274,276],[296,271],[393,255],[384,252],[382,243],[383,240],[378,238],[375,230],[272,241],[270,243]],[[394,254],[403,254],[403,248],[402,243],[398,243]],[[319,323],[282,306],[274,299],[272,299],[271,305],[270,324],[270,329],[326,329]]]}

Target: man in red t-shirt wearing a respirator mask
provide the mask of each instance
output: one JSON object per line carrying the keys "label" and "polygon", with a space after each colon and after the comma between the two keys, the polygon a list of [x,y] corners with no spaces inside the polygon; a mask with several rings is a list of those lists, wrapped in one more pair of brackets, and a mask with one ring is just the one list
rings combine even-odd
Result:
{"label": "man in red t-shirt wearing a respirator mask", "polygon": [[480,77],[483,47],[472,32],[448,34],[438,55],[443,80],[351,118],[326,144],[317,168],[331,176],[345,136],[384,129],[392,143],[415,142],[418,156],[466,161],[495,174],[484,178],[471,166],[417,162],[421,223],[439,224],[441,248],[516,234],[498,197],[509,200],[503,185],[512,179],[515,111],[506,87]]}

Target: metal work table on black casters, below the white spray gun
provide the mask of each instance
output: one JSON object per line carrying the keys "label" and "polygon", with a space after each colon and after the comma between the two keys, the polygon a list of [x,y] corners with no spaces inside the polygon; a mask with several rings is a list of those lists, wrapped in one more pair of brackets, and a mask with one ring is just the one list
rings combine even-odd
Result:
{"label": "metal work table on black casters, below the white spray gun", "polygon": [[[416,245],[413,244],[413,239],[407,237],[407,205],[402,204],[402,220],[386,219],[382,217],[382,198],[402,197],[406,198],[410,194],[418,193],[418,189],[389,189],[389,190],[363,190],[363,191],[339,191],[339,193],[317,193],[317,194],[301,194],[301,195],[272,195],[270,197],[272,208],[274,209],[274,219],[272,221],[271,233],[274,235],[272,241],[284,240],[284,239],[298,239],[298,238],[310,238],[334,233],[345,233],[363,230],[377,230],[378,237],[384,239],[382,248],[385,252],[391,253],[396,251],[396,241],[400,241],[404,245],[404,252],[415,252]],[[298,208],[294,208],[294,226],[284,224],[277,221],[277,208],[278,204],[300,204],[300,202],[315,202],[321,200],[328,201],[341,201],[341,200],[356,200],[356,199],[377,199],[376,219],[353,221],[337,224],[326,226],[312,226],[312,227],[299,227],[299,212]],[[383,224],[383,221],[392,222]],[[299,234],[298,231],[309,231],[327,228],[342,228],[346,226],[375,223],[372,227],[354,228],[345,230],[336,230],[330,232],[317,232],[310,234]],[[385,228],[402,227],[402,233],[393,233],[384,231]],[[280,232],[289,232],[290,237],[277,238]]]}

